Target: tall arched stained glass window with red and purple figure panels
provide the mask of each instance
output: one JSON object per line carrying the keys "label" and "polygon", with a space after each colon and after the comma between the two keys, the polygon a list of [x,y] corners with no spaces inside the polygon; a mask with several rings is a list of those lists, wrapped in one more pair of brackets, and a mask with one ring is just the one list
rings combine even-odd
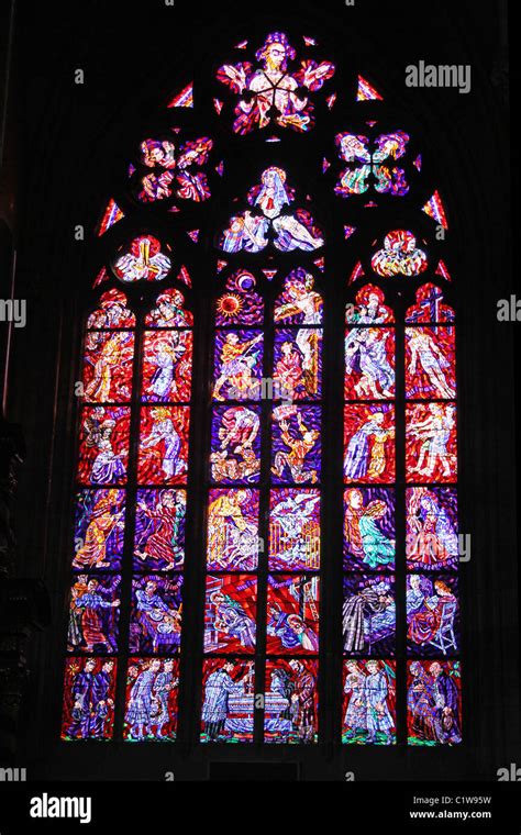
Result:
{"label": "tall arched stained glass window with red and purple figure panels", "polygon": [[65,741],[462,739],[450,215],[332,54],[223,51],[101,202]]}

